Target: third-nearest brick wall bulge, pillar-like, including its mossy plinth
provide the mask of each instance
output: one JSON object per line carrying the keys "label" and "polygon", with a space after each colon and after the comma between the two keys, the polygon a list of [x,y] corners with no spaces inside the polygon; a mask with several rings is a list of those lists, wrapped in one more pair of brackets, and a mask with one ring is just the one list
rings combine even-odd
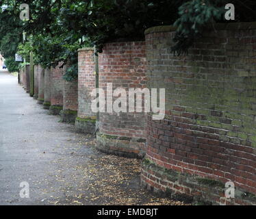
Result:
{"label": "third-nearest brick wall bulge, pillar-like, including its mossy plinth", "polygon": [[95,88],[94,50],[78,50],[78,109],[75,127],[77,131],[94,133],[97,115],[91,110],[90,92]]}

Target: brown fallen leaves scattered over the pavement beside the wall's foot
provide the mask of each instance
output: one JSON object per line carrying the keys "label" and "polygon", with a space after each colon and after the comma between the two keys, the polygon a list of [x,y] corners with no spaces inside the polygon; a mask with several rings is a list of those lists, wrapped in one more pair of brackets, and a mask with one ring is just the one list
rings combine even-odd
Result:
{"label": "brown fallen leaves scattered over the pavement beside the wall's foot", "polygon": [[[50,205],[188,205],[162,198],[140,187],[140,159],[106,155],[97,151],[90,135],[68,138],[56,146],[57,166],[48,172],[49,185],[42,190]],[[45,198],[47,197],[47,198]]]}

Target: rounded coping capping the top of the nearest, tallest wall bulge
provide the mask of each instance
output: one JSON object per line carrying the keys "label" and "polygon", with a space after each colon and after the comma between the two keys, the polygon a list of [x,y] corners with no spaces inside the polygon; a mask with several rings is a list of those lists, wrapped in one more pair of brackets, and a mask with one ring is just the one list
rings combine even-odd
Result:
{"label": "rounded coping capping the top of the nearest, tallest wall bulge", "polygon": [[[160,32],[176,31],[176,27],[171,25],[150,27],[144,31],[144,34],[153,34]],[[239,30],[239,29],[256,29],[256,22],[238,22],[238,23],[215,23],[213,26],[208,25],[205,29],[218,30]]]}

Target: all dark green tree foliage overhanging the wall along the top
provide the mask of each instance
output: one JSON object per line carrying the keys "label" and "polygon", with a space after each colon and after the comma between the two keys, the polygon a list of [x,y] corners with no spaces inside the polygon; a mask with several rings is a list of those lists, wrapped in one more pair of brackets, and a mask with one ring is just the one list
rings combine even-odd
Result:
{"label": "all dark green tree foliage overhanging the wall along the top", "polygon": [[63,62],[68,64],[67,80],[77,77],[77,49],[81,47],[94,45],[101,52],[105,42],[141,40],[149,27],[175,25],[172,50],[180,55],[188,52],[205,26],[227,22],[223,19],[226,3],[235,5],[235,21],[256,21],[253,0],[25,0],[30,17],[24,22],[19,19],[19,1],[1,3],[8,5],[0,10],[3,56],[14,57],[18,51],[27,60],[33,51],[35,62],[42,66]]}

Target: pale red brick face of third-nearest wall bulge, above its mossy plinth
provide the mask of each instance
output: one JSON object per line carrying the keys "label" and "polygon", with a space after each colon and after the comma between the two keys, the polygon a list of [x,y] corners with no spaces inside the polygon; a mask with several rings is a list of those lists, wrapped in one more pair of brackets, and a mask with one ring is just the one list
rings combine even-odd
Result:
{"label": "pale red brick face of third-nearest wall bulge, above its mossy plinth", "polygon": [[90,92],[96,88],[95,62],[93,48],[78,51],[78,111],[77,117],[86,118],[96,116],[91,110],[92,96]]}

